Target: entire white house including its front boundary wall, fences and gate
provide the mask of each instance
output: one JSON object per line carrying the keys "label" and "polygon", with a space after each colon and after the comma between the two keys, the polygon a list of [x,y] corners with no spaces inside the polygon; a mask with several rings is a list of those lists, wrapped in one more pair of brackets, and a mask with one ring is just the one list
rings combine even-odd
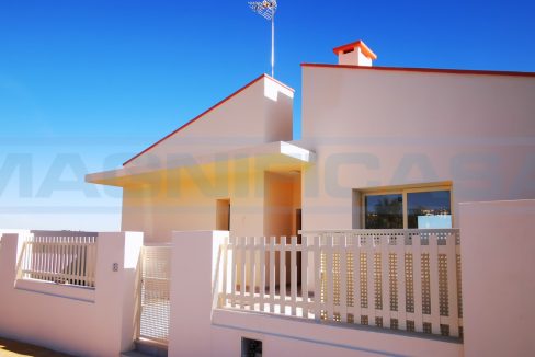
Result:
{"label": "entire white house including its front boundary wall, fences and gate", "polygon": [[294,90],[263,74],[87,176],[123,187],[123,232],[3,232],[0,334],[83,356],[534,355],[535,73],[333,51],[301,65],[301,139]]}

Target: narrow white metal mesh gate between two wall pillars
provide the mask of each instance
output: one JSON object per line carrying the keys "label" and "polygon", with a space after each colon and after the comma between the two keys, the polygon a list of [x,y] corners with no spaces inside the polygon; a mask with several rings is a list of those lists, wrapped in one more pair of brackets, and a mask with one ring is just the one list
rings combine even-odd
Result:
{"label": "narrow white metal mesh gate between two wall pillars", "polygon": [[144,246],[139,337],[168,344],[171,268],[170,246]]}

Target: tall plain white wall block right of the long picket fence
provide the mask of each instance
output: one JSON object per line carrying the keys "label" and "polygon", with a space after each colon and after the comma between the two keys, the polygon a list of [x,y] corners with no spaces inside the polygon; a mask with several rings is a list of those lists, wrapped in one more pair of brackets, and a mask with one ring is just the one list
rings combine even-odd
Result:
{"label": "tall plain white wall block right of the long picket fence", "polygon": [[460,205],[465,356],[535,356],[535,200]]}

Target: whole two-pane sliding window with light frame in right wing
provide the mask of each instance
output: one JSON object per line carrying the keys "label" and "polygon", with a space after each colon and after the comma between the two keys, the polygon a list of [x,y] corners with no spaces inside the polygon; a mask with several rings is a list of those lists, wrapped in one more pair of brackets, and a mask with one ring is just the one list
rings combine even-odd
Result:
{"label": "whole two-pane sliding window with light frame in right wing", "polygon": [[363,192],[365,229],[452,228],[448,186]]}

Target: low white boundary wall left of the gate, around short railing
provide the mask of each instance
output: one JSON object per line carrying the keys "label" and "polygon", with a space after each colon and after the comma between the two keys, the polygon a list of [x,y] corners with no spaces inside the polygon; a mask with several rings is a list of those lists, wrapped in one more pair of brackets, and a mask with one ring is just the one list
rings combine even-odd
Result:
{"label": "low white boundary wall left of the gate, around short railing", "polygon": [[[4,234],[0,245],[0,335],[75,356],[110,357],[135,338],[137,263],[143,234],[100,233],[96,288],[19,281],[22,238]],[[119,265],[113,272],[113,264]],[[33,284],[29,284],[33,283]],[[92,301],[82,301],[90,297]]]}

